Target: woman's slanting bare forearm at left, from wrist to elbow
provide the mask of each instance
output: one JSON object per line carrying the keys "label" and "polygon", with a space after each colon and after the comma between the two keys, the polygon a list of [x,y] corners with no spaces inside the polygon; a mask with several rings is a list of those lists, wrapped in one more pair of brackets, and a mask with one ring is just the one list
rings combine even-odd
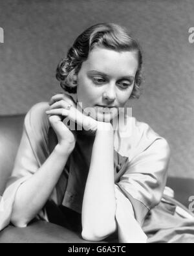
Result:
{"label": "woman's slanting bare forearm at left, from wrist to elbow", "polygon": [[56,145],[39,170],[19,187],[14,201],[12,223],[27,226],[41,211],[54,190],[70,155],[69,148]]}

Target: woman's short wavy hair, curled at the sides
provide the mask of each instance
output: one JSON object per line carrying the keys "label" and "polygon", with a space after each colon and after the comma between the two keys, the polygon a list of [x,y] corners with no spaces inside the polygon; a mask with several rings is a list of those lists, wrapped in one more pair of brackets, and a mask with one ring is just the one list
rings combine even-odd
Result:
{"label": "woman's short wavy hair, curled at the sides", "polygon": [[142,51],[136,40],[131,38],[124,27],[114,23],[100,23],[85,30],[67,52],[67,58],[59,62],[56,78],[61,87],[68,93],[76,93],[74,76],[78,75],[81,64],[87,60],[89,52],[94,47],[106,47],[114,51],[135,52],[138,58],[138,70],[135,76],[135,86],[130,98],[139,98],[142,82]]}

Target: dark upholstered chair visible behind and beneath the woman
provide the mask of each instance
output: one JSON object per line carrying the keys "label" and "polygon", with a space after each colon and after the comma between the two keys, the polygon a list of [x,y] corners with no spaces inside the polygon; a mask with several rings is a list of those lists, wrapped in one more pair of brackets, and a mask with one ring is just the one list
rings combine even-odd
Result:
{"label": "dark upholstered chair visible behind and beneath the woman", "polygon": [[[17,148],[23,130],[25,115],[0,117],[0,195],[5,190],[6,180],[14,167]],[[194,195],[194,180],[169,177],[167,185],[175,191],[175,198],[188,207],[189,196]],[[87,243],[80,235],[64,227],[47,222],[34,222],[28,227],[19,229],[8,226],[0,232],[0,243],[10,242],[80,242]],[[103,243],[105,241],[101,241]]]}

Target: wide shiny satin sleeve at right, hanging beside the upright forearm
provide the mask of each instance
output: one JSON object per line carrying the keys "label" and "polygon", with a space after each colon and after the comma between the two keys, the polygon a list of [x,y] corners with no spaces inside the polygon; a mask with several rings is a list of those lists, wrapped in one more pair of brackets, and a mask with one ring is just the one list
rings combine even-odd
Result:
{"label": "wide shiny satin sleeve at right, hanging beside the upright forearm", "polygon": [[170,150],[166,139],[145,123],[139,124],[132,137],[131,159],[115,184],[116,220],[122,241],[135,239],[136,230],[136,239],[145,242],[141,227],[147,213],[162,199]]}

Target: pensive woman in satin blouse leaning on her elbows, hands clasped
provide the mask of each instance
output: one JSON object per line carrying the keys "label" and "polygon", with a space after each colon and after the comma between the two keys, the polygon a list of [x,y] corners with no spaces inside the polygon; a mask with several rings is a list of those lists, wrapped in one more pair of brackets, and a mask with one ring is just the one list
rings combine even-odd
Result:
{"label": "pensive woman in satin blouse leaning on her elbows, hands clasped", "polygon": [[[38,218],[85,240],[161,240],[153,222],[169,214],[169,146],[124,111],[140,96],[141,73],[142,52],[123,27],[102,23],[78,36],[57,69],[64,94],[25,117],[0,229]],[[175,211],[171,218],[185,221]]]}

